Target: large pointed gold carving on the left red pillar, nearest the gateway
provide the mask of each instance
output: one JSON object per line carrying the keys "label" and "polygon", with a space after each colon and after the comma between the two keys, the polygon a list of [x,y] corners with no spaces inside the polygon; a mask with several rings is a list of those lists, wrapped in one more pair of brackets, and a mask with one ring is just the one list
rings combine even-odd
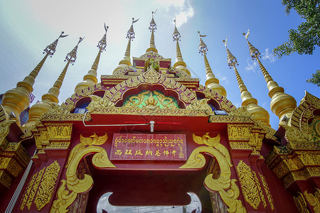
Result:
{"label": "large pointed gold carving on the left red pillar, nearest the gateway", "polygon": [[34,203],[38,211],[43,209],[51,200],[53,190],[55,188],[55,181],[57,181],[60,172],[60,165],[55,160],[46,168],[46,173],[43,174],[41,184],[38,188]]}

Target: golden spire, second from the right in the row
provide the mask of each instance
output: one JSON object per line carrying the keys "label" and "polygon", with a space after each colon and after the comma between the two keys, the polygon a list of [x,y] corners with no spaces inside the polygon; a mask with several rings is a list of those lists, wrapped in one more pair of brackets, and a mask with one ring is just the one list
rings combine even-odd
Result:
{"label": "golden spire, second from the right in the row", "polygon": [[239,84],[239,89],[241,93],[241,99],[242,99],[242,106],[247,107],[247,111],[249,111],[250,114],[252,114],[255,117],[256,121],[260,121],[261,124],[264,124],[265,126],[270,126],[270,114],[267,112],[267,110],[263,109],[259,105],[257,105],[257,99],[253,98],[251,93],[247,91],[247,87],[245,87],[245,83],[242,81],[242,78],[239,75],[239,72],[237,70],[236,65],[238,65],[237,59],[235,56],[233,56],[232,53],[230,53],[230,50],[227,48],[227,41],[228,38],[223,40],[225,43],[225,48],[227,49],[227,56],[228,56],[228,66],[233,67],[233,70],[235,70],[235,77],[237,77],[237,81]]}

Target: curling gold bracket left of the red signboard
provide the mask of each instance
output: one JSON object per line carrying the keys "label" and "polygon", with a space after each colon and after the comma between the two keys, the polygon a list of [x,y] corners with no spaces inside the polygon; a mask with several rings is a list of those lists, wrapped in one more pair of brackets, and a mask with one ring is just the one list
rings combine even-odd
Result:
{"label": "curling gold bracket left of the red signboard", "polygon": [[80,143],[77,144],[68,158],[67,168],[65,173],[66,180],[61,180],[62,183],[58,189],[58,199],[53,202],[50,212],[68,212],[68,207],[75,201],[79,193],[88,192],[92,185],[93,179],[90,175],[85,174],[82,180],[77,177],[77,168],[87,154],[95,153],[92,157],[92,164],[97,168],[116,168],[109,160],[105,148],[96,145],[102,145],[107,141],[107,133],[103,136],[97,136],[93,133],[92,136],[84,137],[80,135]]}

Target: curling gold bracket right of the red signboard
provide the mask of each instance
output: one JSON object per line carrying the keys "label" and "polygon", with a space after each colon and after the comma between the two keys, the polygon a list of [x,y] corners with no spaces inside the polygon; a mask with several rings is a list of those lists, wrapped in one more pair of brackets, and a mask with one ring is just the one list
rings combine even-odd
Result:
{"label": "curling gold bracket right of the red signboard", "polygon": [[228,149],[220,143],[220,135],[210,138],[209,133],[202,137],[196,136],[193,133],[193,141],[206,146],[195,148],[189,156],[187,162],[180,169],[195,169],[203,168],[206,164],[206,158],[201,153],[209,153],[216,160],[220,167],[220,176],[218,179],[213,179],[213,174],[206,176],[204,185],[209,192],[219,192],[223,202],[228,206],[228,212],[247,212],[242,206],[241,200],[238,200],[240,190],[235,184],[237,180],[230,180],[231,164]]}

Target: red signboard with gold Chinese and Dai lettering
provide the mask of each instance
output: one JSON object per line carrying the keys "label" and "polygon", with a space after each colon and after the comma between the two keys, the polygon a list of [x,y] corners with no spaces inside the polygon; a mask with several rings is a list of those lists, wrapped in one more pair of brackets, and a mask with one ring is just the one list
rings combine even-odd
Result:
{"label": "red signboard with gold Chinese and Dai lettering", "polygon": [[186,160],[186,135],[114,133],[110,160]]}

